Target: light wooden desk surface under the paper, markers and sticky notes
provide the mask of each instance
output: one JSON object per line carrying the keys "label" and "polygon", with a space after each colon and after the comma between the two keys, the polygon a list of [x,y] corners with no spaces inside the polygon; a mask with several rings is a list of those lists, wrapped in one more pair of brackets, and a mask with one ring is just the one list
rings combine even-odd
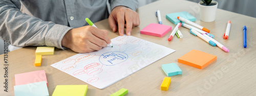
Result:
{"label": "light wooden desk surface under the paper, markers and sticky notes", "polygon": [[[175,25],[165,18],[168,13],[187,11],[197,18],[196,23],[210,29],[210,34],[214,35],[217,41],[229,48],[226,53],[219,47],[212,47],[205,41],[189,33],[189,29],[180,27],[183,34],[182,39],[176,36],[168,42],[167,33],[164,37],[153,37],[141,35],[140,30],[150,23],[158,23],[155,16],[159,9],[162,14],[162,21],[165,25],[173,28]],[[87,95],[110,95],[115,91],[126,88],[129,93],[126,95],[255,95],[256,94],[256,18],[236,14],[221,9],[217,10],[214,22],[202,22],[199,18],[199,7],[197,3],[188,1],[158,1],[138,9],[140,16],[140,26],[133,28],[132,36],[138,37],[159,45],[176,50],[176,52],[152,63],[150,66],[112,84],[104,89],[97,89],[88,84]],[[223,39],[227,21],[231,20],[231,30],[228,40]],[[108,20],[95,23],[98,28],[109,31],[110,38],[119,36],[118,33],[111,32]],[[243,48],[243,26],[247,26],[247,48]],[[80,85],[87,84],[64,72],[61,72],[50,65],[62,59],[68,58],[77,53],[72,50],[55,49],[54,55],[42,56],[41,67],[34,67],[36,47],[25,47],[8,54],[8,92],[4,92],[4,84],[1,84],[0,95],[14,95],[15,85],[14,75],[19,73],[45,70],[48,79],[48,90],[51,95],[56,85]],[[212,62],[203,70],[193,68],[177,59],[192,49],[200,50],[217,55],[217,60]],[[1,60],[1,82],[4,82],[4,55],[0,55]],[[161,91],[160,85],[166,75],[161,69],[165,63],[175,62],[183,71],[182,75],[172,76],[172,83],[168,91]]]}

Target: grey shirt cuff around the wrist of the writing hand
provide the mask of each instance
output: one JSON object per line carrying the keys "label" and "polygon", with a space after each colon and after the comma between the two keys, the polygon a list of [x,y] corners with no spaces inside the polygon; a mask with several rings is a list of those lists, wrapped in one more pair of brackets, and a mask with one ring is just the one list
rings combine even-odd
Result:
{"label": "grey shirt cuff around the wrist of the writing hand", "polygon": [[45,37],[46,46],[55,46],[59,49],[67,49],[67,48],[61,46],[61,41],[70,29],[72,29],[72,27],[55,24],[48,31],[48,34]]}

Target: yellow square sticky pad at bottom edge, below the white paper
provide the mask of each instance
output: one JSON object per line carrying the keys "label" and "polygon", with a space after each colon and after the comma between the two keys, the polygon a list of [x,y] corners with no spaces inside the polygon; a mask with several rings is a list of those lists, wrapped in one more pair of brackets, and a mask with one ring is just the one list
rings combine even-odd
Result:
{"label": "yellow square sticky pad at bottom edge, below the white paper", "polygon": [[87,85],[57,85],[52,96],[86,96],[87,89]]}

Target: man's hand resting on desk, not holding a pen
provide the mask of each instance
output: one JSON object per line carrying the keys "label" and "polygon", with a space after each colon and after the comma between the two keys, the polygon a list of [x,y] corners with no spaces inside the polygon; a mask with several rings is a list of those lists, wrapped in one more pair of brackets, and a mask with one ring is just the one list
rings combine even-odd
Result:
{"label": "man's hand resting on desk, not holding a pen", "polygon": [[126,27],[126,35],[131,35],[132,28],[140,24],[140,19],[138,13],[132,9],[118,6],[111,11],[109,16],[109,24],[110,28],[112,28],[114,32],[116,32],[116,24],[118,24],[120,36],[123,36],[124,27]]}

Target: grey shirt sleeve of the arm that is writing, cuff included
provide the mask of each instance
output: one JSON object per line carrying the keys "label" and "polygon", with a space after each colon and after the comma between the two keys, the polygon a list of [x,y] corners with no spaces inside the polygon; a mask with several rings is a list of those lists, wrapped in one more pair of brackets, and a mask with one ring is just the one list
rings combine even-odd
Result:
{"label": "grey shirt sleeve of the arm that is writing, cuff included", "polygon": [[17,47],[55,46],[72,27],[43,21],[20,12],[20,2],[0,1],[0,38]]}

